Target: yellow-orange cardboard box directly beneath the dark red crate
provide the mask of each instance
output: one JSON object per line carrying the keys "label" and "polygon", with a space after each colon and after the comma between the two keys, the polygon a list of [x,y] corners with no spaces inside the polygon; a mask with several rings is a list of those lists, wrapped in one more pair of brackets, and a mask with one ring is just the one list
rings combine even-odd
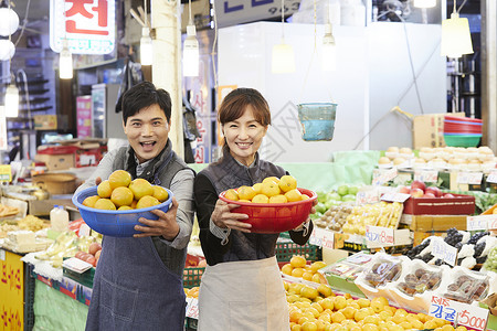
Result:
{"label": "yellow-orange cardboard box directly beneath the dark red crate", "polygon": [[402,215],[401,223],[414,232],[446,232],[455,227],[466,229],[467,215]]}

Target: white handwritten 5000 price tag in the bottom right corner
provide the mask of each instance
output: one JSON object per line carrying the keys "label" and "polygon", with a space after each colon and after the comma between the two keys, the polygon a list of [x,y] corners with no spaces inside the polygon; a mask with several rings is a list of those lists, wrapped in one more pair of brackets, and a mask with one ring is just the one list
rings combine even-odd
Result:
{"label": "white handwritten 5000 price tag in the bottom right corner", "polygon": [[432,296],[429,314],[475,330],[485,330],[488,309]]}

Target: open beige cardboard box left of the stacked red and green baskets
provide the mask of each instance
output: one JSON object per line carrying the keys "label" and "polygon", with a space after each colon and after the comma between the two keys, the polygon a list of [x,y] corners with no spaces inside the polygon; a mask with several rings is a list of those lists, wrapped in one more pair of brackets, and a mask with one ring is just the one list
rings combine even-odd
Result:
{"label": "open beige cardboard box left of the stacked red and green baskets", "polygon": [[464,113],[426,114],[414,116],[412,122],[412,143],[414,149],[422,147],[445,147],[444,119],[447,116],[464,117]]}

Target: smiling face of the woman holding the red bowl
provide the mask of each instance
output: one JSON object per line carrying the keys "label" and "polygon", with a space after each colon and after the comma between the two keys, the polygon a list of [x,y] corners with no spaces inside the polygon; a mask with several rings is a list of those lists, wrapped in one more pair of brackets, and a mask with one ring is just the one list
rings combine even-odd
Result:
{"label": "smiling face of the woman holding the red bowl", "polygon": [[222,129],[233,158],[247,167],[252,164],[267,131],[267,126],[255,120],[252,106],[245,108],[242,117],[225,122]]}

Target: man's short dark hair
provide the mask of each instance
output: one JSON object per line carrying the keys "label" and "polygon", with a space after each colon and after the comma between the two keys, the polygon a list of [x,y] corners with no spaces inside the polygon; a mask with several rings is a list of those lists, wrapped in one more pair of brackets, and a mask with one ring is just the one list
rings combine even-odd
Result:
{"label": "man's short dark hair", "polygon": [[123,95],[123,120],[126,121],[129,116],[134,116],[142,108],[151,105],[159,105],[168,121],[171,120],[171,97],[162,88],[156,88],[150,82],[139,83],[129,88]]}

